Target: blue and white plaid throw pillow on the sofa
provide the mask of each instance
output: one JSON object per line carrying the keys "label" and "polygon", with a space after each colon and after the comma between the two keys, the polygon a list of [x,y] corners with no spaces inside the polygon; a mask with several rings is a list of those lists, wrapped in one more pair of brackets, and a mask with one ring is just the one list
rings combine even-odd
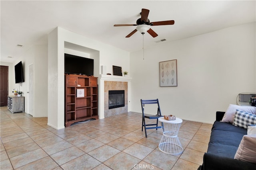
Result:
{"label": "blue and white plaid throw pillow on the sofa", "polygon": [[233,125],[247,129],[249,124],[256,125],[256,115],[236,109]]}

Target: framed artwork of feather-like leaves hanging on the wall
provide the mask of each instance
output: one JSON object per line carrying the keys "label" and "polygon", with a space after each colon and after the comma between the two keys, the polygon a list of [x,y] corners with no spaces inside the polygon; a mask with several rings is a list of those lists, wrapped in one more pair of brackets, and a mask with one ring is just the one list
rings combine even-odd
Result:
{"label": "framed artwork of feather-like leaves hanging on the wall", "polygon": [[177,86],[177,60],[159,62],[160,87]]}

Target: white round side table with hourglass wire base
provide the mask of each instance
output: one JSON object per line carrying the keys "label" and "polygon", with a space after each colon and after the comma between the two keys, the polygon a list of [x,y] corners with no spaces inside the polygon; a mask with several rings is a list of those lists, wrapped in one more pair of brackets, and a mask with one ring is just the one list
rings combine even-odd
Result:
{"label": "white round side table with hourglass wire base", "polygon": [[166,120],[164,117],[160,117],[158,118],[158,121],[162,122],[162,128],[164,130],[158,148],[167,154],[181,154],[183,148],[178,139],[178,132],[182,119],[176,117],[176,120]]}

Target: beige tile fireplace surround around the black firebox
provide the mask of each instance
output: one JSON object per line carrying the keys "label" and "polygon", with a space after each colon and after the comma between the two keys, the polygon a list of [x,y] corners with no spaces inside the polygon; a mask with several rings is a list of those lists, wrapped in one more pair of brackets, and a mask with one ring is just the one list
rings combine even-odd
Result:
{"label": "beige tile fireplace surround around the black firebox", "polygon": [[[124,90],[124,107],[108,109],[108,91]],[[104,117],[126,113],[128,111],[128,82],[104,81]]]}

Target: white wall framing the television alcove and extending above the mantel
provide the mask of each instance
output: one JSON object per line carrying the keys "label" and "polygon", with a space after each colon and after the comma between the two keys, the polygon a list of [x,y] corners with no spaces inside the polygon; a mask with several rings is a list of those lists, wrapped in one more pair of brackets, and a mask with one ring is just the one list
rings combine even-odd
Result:
{"label": "white wall framing the television alcove and extending above the mantel", "polygon": [[[130,71],[129,53],[116,47],[100,43],[88,37],[57,27],[48,35],[48,125],[64,128],[64,52],[65,43],[92,49],[94,76],[100,76],[100,66],[105,65],[112,73],[112,65]],[[66,43],[67,44],[67,43]],[[121,57],[121,59],[120,59]],[[104,84],[99,84],[99,118],[104,118]],[[102,116],[103,115],[103,116]]]}

